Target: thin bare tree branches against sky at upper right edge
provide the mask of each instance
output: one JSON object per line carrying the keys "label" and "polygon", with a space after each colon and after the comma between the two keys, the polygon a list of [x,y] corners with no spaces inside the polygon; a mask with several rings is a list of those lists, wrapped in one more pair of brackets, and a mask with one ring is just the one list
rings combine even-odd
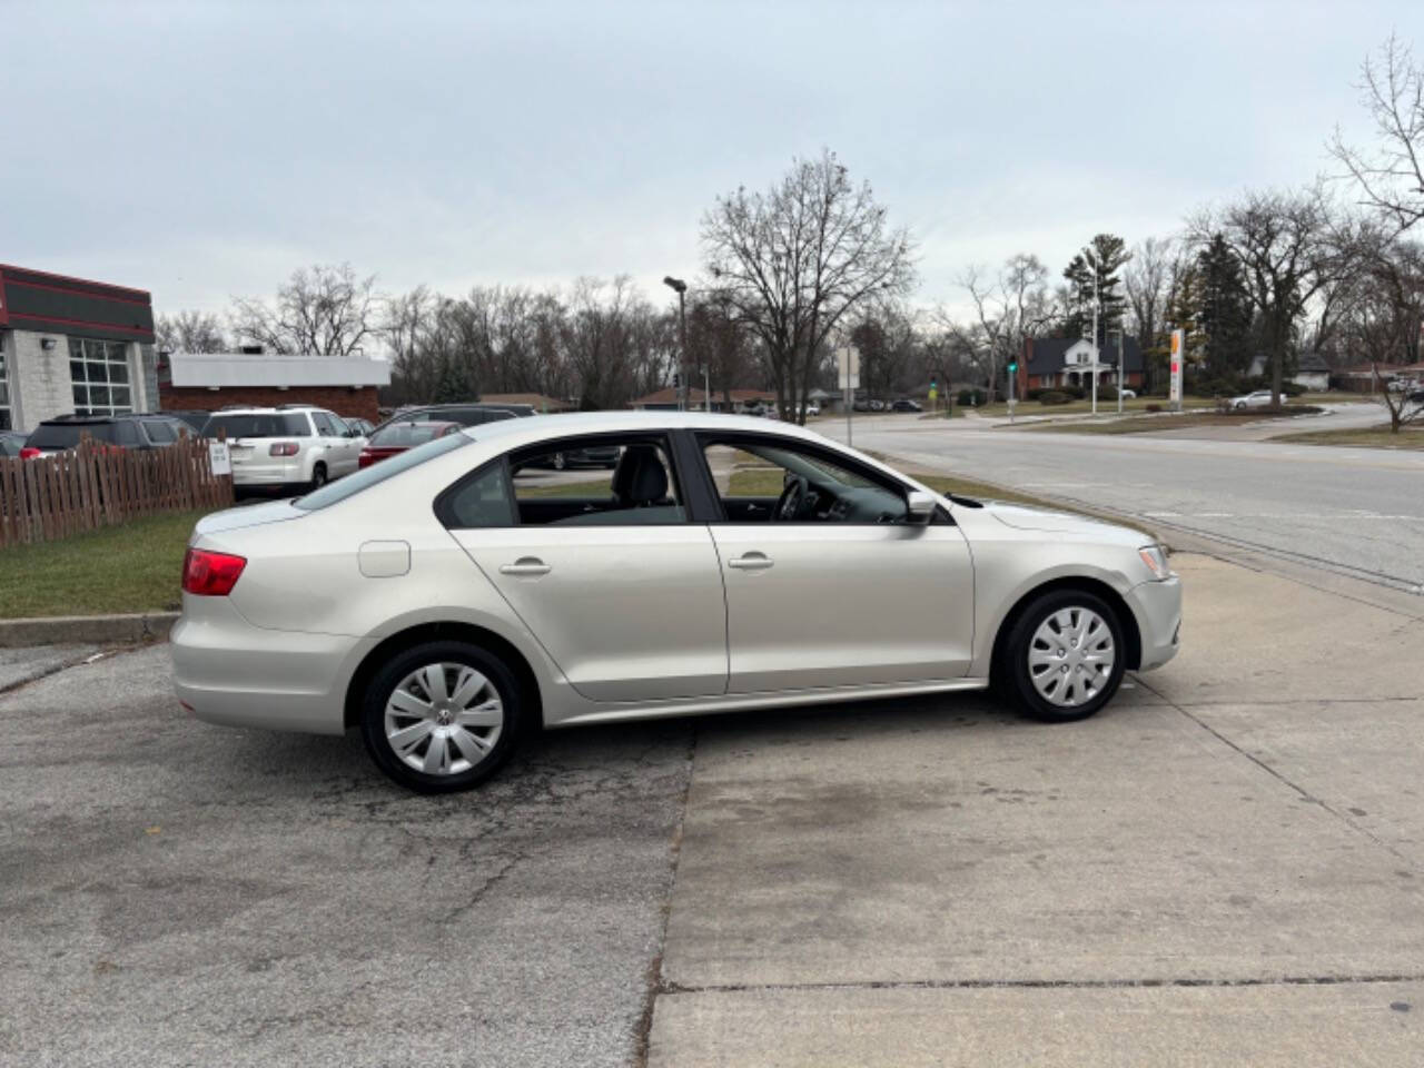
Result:
{"label": "thin bare tree branches against sky at upper right edge", "polygon": [[1347,145],[1336,130],[1330,152],[1354,178],[1363,202],[1403,234],[1424,219],[1424,68],[1393,34],[1361,67],[1360,100],[1374,121],[1374,150]]}

